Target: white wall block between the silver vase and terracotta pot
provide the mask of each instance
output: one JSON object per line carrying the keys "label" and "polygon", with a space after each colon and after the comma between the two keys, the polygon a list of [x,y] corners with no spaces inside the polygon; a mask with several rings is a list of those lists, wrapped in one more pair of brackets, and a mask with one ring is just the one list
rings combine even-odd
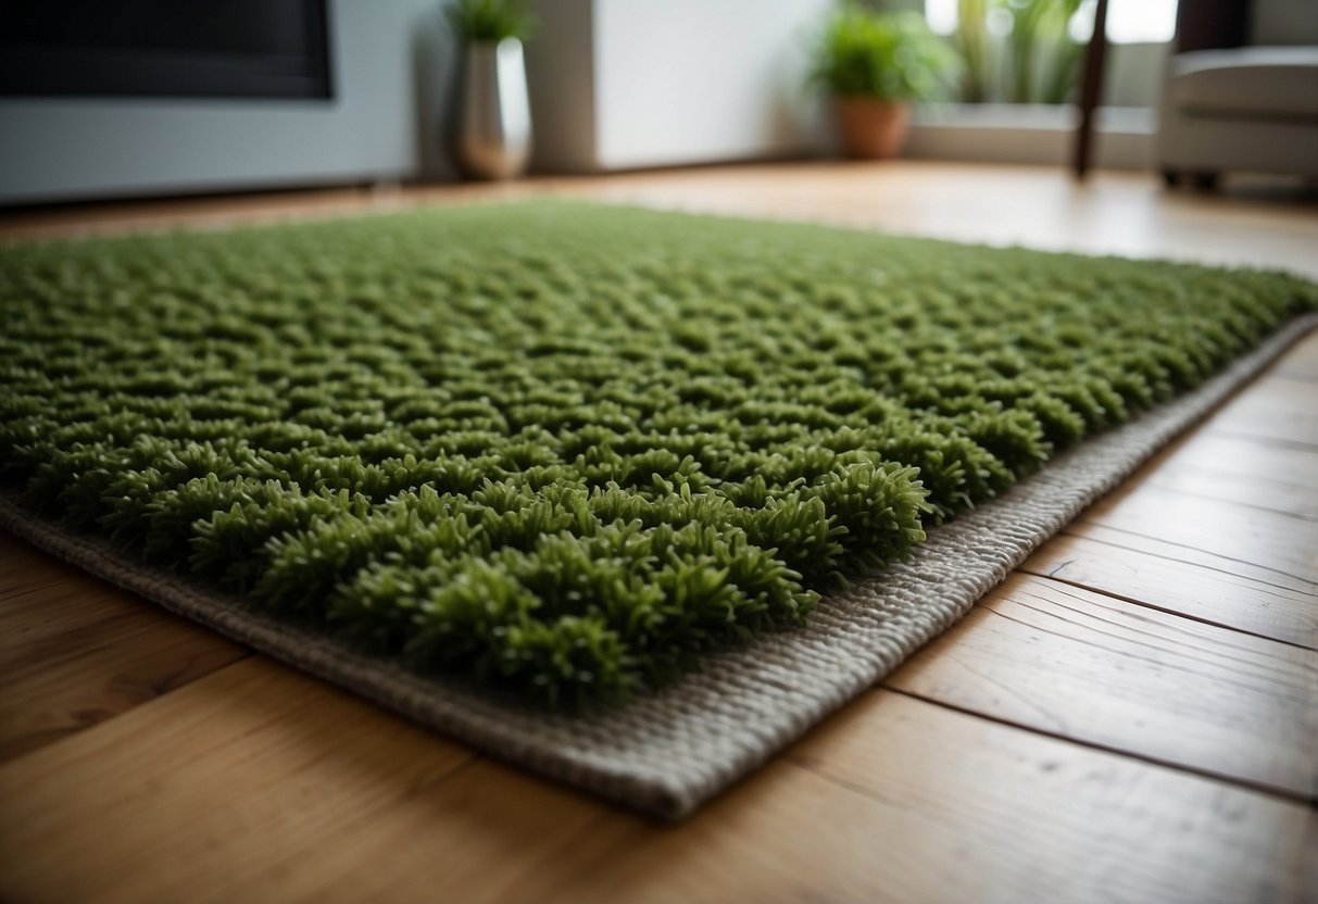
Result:
{"label": "white wall block between the silver vase and terracotta pot", "polygon": [[590,173],[799,155],[833,0],[540,0],[529,47],[535,169]]}

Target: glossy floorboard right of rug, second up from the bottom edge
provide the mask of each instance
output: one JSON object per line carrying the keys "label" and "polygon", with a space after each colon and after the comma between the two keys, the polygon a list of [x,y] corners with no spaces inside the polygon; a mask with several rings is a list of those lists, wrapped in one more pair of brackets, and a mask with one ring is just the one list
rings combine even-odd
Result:
{"label": "glossy floorboard right of rug, second up from the bottom edge", "polygon": [[1032,575],[884,687],[1300,801],[1318,792],[1318,652]]}

